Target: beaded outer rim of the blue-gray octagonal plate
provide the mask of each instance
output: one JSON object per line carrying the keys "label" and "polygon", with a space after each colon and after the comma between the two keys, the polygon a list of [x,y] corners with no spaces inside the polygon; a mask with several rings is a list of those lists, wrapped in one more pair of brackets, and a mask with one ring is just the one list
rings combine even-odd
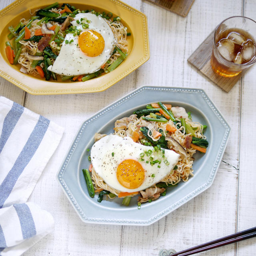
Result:
{"label": "beaded outer rim of the blue-gray octagonal plate", "polygon": [[[189,194],[187,194],[183,198],[179,199],[176,203],[172,204],[171,206],[169,206],[165,210],[162,210],[162,211],[158,212],[158,214],[156,214],[155,216],[153,216],[150,219],[147,219],[147,220],[127,220],[127,219],[125,219],[124,220],[124,219],[108,219],[108,218],[88,218],[88,217],[85,216],[85,214],[83,212],[81,212],[81,208],[80,208],[78,202],[76,202],[75,198],[70,198],[70,196],[68,195],[68,193],[69,194],[72,194],[72,193],[68,189],[68,185],[66,185],[66,183],[62,180],[62,178],[60,178],[60,175],[62,175],[64,170],[65,170],[65,168],[63,169],[63,166],[66,165],[69,162],[70,157],[72,156],[72,154],[74,152],[74,148],[76,147],[76,144],[79,141],[79,139],[77,139],[78,134],[81,131],[82,127],[86,124],[86,122],[88,124],[91,120],[93,120],[93,118],[96,118],[97,116],[99,117],[100,113],[102,113],[104,111],[111,110],[112,106],[116,106],[117,104],[120,104],[120,103],[124,102],[125,100],[127,100],[127,98],[130,98],[130,97],[134,96],[135,94],[141,92],[142,90],[147,90],[147,89],[148,90],[168,90],[168,91],[174,91],[174,92],[191,92],[191,93],[201,94],[204,97],[204,99],[206,100],[206,103],[210,106],[212,111],[217,115],[217,117],[222,122],[223,126],[225,127],[225,132],[224,132],[224,136],[223,136],[224,139],[222,140],[222,143],[221,143],[221,145],[218,149],[218,154],[217,154],[218,156],[216,156],[216,159],[214,160],[214,166],[212,166],[212,169],[211,169],[211,172],[210,172],[211,175],[209,175],[208,180],[206,182],[204,182],[204,184],[201,185],[199,188],[196,188],[194,191],[190,191]],[[193,107],[195,107],[195,106],[193,106]],[[82,122],[82,124],[80,125],[80,127],[78,129],[78,132],[74,136],[74,140],[70,144],[70,148],[68,150],[68,153],[66,154],[66,157],[64,158],[64,160],[63,160],[63,162],[60,166],[60,169],[56,174],[56,179],[58,180],[59,185],[62,187],[62,189],[64,191],[64,194],[66,195],[66,197],[68,198],[68,200],[72,204],[74,210],[77,212],[78,216],[80,217],[80,219],[83,222],[91,223],[91,224],[96,223],[96,224],[130,225],[130,226],[134,226],[134,225],[136,225],[136,226],[148,226],[148,225],[151,225],[154,222],[160,220],[160,218],[166,216],[170,212],[176,210],[178,207],[180,207],[183,204],[185,204],[186,202],[190,201],[192,198],[198,196],[199,194],[204,192],[206,189],[210,188],[210,186],[212,185],[212,183],[214,181],[214,178],[216,176],[216,173],[217,173],[218,167],[220,165],[220,161],[223,157],[224,151],[226,149],[227,142],[228,142],[228,139],[229,139],[229,136],[230,136],[230,131],[231,131],[231,128],[230,128],[228,122],[224,119],[220,110],[214,105],[212,100],[210,100],[210,98],[207,96],[207,94],[204,92],[203,89],[144,85],[144,86],[141,86],[141,87],[133,90],[132,92],[126,94],[122,98],[112,102],[111,104],[102,108],[101,110],[96,112],[94,115],[92,115],[90,118],[88,118],[88,119],[86,119],[85,121]],[[66,161],[67,159],[68,159],[68,161]]]}

